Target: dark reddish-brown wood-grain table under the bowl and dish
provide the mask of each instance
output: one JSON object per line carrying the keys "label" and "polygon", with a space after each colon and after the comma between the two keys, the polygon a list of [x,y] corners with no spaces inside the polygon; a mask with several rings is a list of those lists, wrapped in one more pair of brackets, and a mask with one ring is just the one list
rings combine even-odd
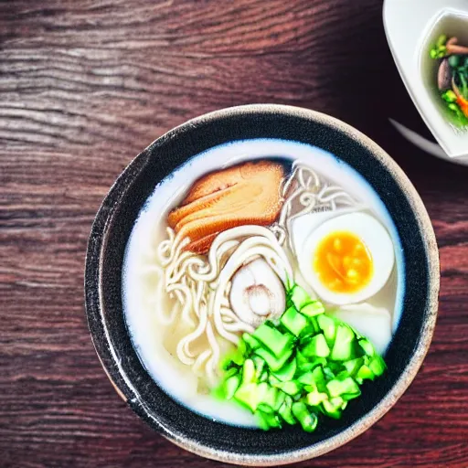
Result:
{"label": "dark reddish-brown wood-grain table under the bowl and dish", "polygon": [[431,350],[399,403],[300,466],[468,466],[468,168],[423,154],[379,0],[0,2],[0,466],[221,466],[125,407],[83,309],[102,198],[133,156],[203,112],[278,102],[355,125],[407,172],[441,249]]}

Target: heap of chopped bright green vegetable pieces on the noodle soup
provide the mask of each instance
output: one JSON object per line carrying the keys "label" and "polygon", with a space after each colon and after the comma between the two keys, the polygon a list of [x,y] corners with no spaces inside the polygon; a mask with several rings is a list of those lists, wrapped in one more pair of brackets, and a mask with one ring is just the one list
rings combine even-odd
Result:
{"label": "heap of chopped bright green vegetable pieces on the noodle soup", "polygon": [[287,302],[277,324],[242,336],[223,361],[216,395],[249,409],[263,430],[286,423],[314,431],[318,413],[339,419],[363,381],[381,376],[386,365],[367,338],[325,315],[299,286],[287,292]]}

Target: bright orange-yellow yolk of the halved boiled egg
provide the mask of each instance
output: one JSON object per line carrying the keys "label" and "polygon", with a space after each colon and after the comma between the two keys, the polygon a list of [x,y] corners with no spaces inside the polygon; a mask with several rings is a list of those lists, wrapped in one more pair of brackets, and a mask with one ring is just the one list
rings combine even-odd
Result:
{"label": "bright orange-yellow yolk of the halved boiled egg", "polygon": [[372,256],[366,244],[351,232],[333,232],[314,252],[314,270],[335,293],[356,293],[372,278]]}

